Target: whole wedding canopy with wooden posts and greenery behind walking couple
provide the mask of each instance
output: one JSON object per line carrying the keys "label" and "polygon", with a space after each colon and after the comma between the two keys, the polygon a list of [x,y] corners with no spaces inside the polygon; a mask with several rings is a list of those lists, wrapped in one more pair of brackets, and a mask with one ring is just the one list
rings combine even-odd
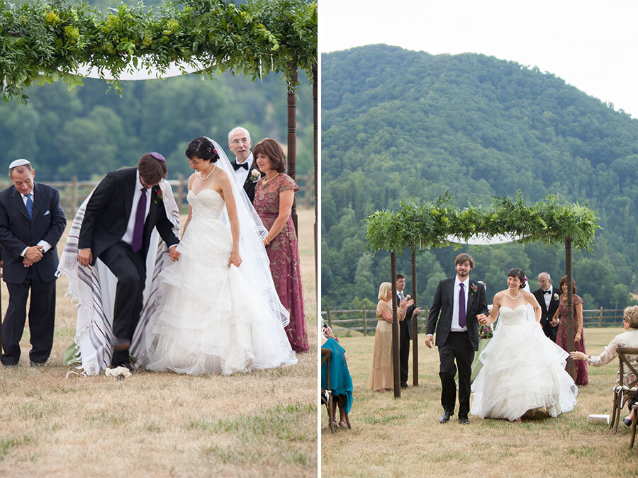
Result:
{"label": "whole wedding canopy with wooden posts and greenery behind walking couple", "polygon": [[[371,214],[366,220],[368,248],[374,252],[388,251],[391,263],[392,283],[392,343],[394,397],[401,397],[399,382],[399,338],[396,303],[396,251],[412,251],[413,298],[416,295],[416,253],[421,249],[457,244],[503,244],[505,242],[540,241],[554,245],[565,244],[567,275],[566,321],[568,343],[573,344],[571,248],[591,250],[593,247],[598,216],[587,206],[563,205],[556,195],[533,205],[527,205],[522,193],[516,198],[493,198],[488,207],[468,205],[459,210],[452,204],[448,193],[440,195],[434,203],[417,205],[402,202],[396,212],[382,210]],[[413,329],[418,334],[416,319]],[[573,348],[573,346],[572,346]],[[418,341],[413,340],[414,385],[418,385]],[[569,372],[574,377],[573,360],[568,362]]]}

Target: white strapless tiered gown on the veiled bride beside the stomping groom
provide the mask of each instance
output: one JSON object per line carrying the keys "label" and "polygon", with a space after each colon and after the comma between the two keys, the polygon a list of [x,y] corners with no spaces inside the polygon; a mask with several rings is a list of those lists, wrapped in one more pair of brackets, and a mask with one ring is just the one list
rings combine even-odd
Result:
{"label": "white strapless tiered gown on the veiled bride beside the stomping groom", "polygon": [[142,366],[230,375],[297,363],[281,320],[251,290],[242,267],[228,267],[233,237],[221,220],[219,193],[189,191],[187,200],[191,222],[179,261],[160,275],[162,298],[148,326]]}

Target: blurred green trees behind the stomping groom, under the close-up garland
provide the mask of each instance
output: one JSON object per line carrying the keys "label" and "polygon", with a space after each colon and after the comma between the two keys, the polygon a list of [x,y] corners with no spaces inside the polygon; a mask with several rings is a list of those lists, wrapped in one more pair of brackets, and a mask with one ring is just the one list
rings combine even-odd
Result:
{"label": "blurred green trees behind the stomping groom, under the close-up garland", "polygon": [[[103,11],[120,3],[89,1]],[[313,98],[306,74],[298,76],[297,172],[305,174],[313,169]],[[125,81],[122,97],[107,90],[106,81],[96,79],[84,79],[84,86],[72,91],[58,82],[30,87],[27,106],[0,105],[4,164],[26,157],[41,180],[87,179],[158,151],[167,158],[169,176],[176,177],[191,171],[184,150],[197,136],[212,137],[227,154],[228,131],[236,125],[250,130],[253,143],[267,136],[286,142],[287,89],[281,75],[254,82],[232,74],[205,81],[195,75]]]}

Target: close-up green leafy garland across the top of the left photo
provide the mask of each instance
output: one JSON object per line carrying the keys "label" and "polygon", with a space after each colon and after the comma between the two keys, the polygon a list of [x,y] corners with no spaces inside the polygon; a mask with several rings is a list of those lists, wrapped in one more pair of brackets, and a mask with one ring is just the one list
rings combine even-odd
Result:
{"label": "close-up green leafy garland across the top of the left photo", "polygon": [[[157,8],[121,4],[100,13],[84,3],[36,0],[15,6],[0,0],[0,91],[26,101],[33,82],[63,79],[80,64],[116,78],[128,64],[164,71],[170,62],[201,62],[203,74],[230,71],[262,78],[291,68],[312,77],[317,62],[317,4],[306,0],[167,1]],[[118,80],[112,81],[121,91]]]}

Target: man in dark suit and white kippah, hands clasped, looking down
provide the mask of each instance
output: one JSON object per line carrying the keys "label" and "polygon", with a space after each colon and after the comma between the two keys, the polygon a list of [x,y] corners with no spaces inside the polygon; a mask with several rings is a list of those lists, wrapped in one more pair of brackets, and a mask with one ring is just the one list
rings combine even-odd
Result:
{"label": "man in dark suit and white kippah, hands clasped, looking down", "polygon": [[67,220],[60,207],[57,189],[35,183],[35,169],[26,159],[9,165],[13,186],[0,191],[0,246],[9,306],[2,324],[0,360],[16,366],[20,360],[20,339],[29,306],[32,367],[45,365],[53,346],[55,322],[55,271],[57,241]]}

